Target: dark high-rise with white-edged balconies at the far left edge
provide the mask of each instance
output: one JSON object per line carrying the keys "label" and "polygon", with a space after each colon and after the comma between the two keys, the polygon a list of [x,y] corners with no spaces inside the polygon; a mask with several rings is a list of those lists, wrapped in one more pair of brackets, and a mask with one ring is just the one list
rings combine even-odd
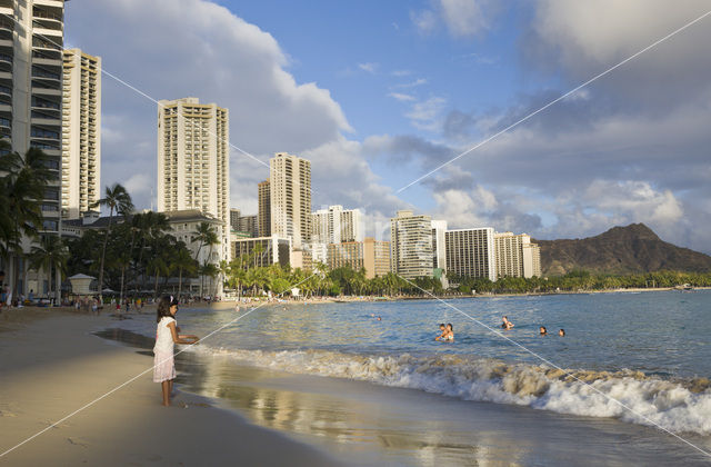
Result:
{"label": "dark high-rise with white-edged balconies at the far left edge", "polygon": [[0,137],[23,155],[49,157],[57,175],[42,199],[44,232],[58,232],[61,205],[63,0],[0,1]]}

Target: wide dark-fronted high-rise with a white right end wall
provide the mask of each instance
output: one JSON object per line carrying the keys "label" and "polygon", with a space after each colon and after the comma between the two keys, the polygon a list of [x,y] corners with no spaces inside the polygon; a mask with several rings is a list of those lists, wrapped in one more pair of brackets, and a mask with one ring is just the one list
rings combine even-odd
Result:
{"label": "wide dark-fronted high-rise with a white right end wall", "polygon": [[497,280],[493,228],[448,230],[444,240],[448,271]]}

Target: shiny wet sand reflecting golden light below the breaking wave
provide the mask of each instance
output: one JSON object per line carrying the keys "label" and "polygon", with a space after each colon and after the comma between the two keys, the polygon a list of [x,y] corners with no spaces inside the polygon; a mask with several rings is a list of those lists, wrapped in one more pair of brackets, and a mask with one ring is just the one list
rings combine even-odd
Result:
{"label": "shiny wet sand reflecting golden light below the breaking wave", "polygon": [[[127,331],[101,337],[152,347],[152,339]],[[219,399],[257,425],[356,465],[647,466],[708,460],[657,430],[613,419],[290,375],[227,356],[183,352],[176,364],[182,390]]]}

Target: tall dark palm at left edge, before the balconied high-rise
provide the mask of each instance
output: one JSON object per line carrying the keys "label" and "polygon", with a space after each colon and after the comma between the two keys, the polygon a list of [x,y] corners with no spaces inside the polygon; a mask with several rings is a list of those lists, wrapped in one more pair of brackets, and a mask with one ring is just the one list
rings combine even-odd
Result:
{"label": "tall dark palm at left edge, before the balconied high-rise", "polygon": [[24,156],[10,152],[7,140],[0,140],[0,255],[13,257],[12,290],[17,295],[20,257],[24,255],[22,238],[36,238],[42,226],[41,200],[47,185],[57,178],[47,166],[47,155],[30,148]]}

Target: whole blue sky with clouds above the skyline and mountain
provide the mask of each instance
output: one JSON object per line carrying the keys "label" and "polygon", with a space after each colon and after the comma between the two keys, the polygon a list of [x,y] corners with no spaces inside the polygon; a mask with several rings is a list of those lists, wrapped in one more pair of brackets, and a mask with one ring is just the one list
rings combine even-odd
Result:
{"label": "whole blue sky with clouds above the skyline and mountain", "polygon": [[[231,202],[269,158],[311,160],[314,210],[582,238],[644,222],[711,254],[705,1],[72,0],[66,46],[102,58],[101,183],[156,207],[157,100],[230,111]],[[478,147],[477,147],[478,146]],[[471,148],[475,149],[410,185]],[[405,188],[407,187],[407,188]]]}

